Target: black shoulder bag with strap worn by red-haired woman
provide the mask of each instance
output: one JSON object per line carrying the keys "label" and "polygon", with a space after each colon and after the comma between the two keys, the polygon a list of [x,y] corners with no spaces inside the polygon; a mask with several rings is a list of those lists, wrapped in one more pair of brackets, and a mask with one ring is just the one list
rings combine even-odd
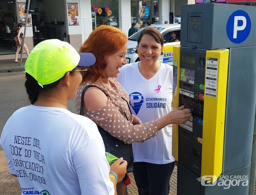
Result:
{"label": "black shoulder bag with strap worn by red-haired woman", "polygon": [[[80,109],[80,115],[84,116],[84,93],[87,89],[94,87],[98,88],[99,87],[95,85],[88,85],[83,89],[82,96],[81,96],[81,109]],[[100,89],[103,91],[102,89]],[[103,93],[108,97],[108,95],[103,91]],[[129,106],[129,105],[128,105]],[[127,119],[128,120],[128,119]],[[106,152],[109,152],[110,154],[113,154],[117,158],[123,157],[124,160],[128,162],[127,165],[127,172],[132,172],[133,171],[133,148],[132,144],[125,144],[123,141],[113,137],[110,135],[107,131],[102,129],[100,126],[98,126],[99,133],[103,139],[104,145],[105,145],[105,150]]]}

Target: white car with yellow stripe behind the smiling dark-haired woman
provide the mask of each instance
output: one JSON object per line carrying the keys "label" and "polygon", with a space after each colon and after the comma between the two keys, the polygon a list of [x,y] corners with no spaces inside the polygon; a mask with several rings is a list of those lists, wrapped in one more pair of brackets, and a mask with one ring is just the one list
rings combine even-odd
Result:
{"label": "white car with yellow stripe behind the smiling dark-haired woman", "polygon": [[[151,25],[148,27],[154,27],[160,31],[160,33],[163,35],[164,39],[164,45],[163,45],[163,55],[160,55],[158,58],[158,61],[166,63],[166,64],[172,64],[173,62],[173,46],[180,45],[180,35],[181,35],[181,24],[157,24],[157,25]],[[145,27],[145,28],[148,28]],[[145,29],[139,30],[137,33],[130,36],[127,43],[127,55],[126,60],[127,63],[133,63],[140,61],[138,54],[135,53],[135,50],[137,48],[137,39],[140,33]],[[171,38],[170,33],[176,31],[176,38],[179,39],[179,42],[168,42]]]}

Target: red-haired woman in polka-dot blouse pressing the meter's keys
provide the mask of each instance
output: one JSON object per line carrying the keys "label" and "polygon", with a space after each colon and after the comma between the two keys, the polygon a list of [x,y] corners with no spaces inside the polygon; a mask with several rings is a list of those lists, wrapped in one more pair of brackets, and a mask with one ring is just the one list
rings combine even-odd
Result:
{"label": "red-haired woman in polka-dot blouse pressing the meter's keys", "polygon": [[[118,69],[127,64],[127,41],[125,33],[112,26],[101,25],[90,34],[80,52],[94,54],[96,63],[87,68],[87,76],[77,90],[75,104],[79,114],[82,100],[84,116],[93,120],[98,128],[111,136],[131,144],[156,136],[168,124],[184,123],[191,114],[189,109],[181,106],[159,119],[144,123],[132,115],[128,103],[129,95],[116,79]],[[92,87],[82,96],[83,89],[89,85]],[[117,194],[127,194],[123,182],[117,184]]]}

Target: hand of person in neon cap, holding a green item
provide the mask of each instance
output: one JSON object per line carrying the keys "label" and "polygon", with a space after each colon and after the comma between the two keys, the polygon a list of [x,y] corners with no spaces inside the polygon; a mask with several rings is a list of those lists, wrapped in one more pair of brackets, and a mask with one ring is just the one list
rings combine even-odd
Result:
{"label": "hand of person in neon cap, holding a green item", "polygon": [[[121,164],[122,163],[122,164]],[[117,159],[113,164],[110,165],[110,171],[117,174],[117,183],[123,181],[124,175],[126,174],[127,161],[123,158]],[[109,173],[112,175],[112,173]]]}

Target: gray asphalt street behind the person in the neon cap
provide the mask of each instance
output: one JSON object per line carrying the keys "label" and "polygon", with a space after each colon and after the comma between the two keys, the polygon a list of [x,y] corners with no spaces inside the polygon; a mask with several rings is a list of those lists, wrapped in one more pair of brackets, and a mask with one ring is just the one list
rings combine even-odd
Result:
{"label": "gray asphalt street behind the person in the neon cap", "polygon": [[[30,104],[24,87],[24,72],[0,73],[0,135],[12,113],[20,107]],[[75,102],[69,100],[68,108],[75,113]],[[17,178],[7,168],[4,151],[0,146],[0,194],[20,195],[21,189]]]}

